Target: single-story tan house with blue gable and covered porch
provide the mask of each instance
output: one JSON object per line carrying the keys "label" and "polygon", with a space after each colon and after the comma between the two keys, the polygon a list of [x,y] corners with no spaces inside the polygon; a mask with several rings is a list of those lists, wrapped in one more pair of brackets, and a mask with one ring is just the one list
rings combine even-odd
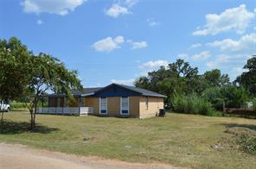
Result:
{"label": "single-story tan house with blue gable and covered porch", "polygon": [[[73,91],[74,99],[65,95],[49,94],[42,99],[38,113],[75,114],[95,116],[121,116],[146,118],[156,116],[163,109],[163,96],[157,92],[123,84],[110,84],[103,88],[85,88]],[[47,105],[46,105],[47,104]]]}

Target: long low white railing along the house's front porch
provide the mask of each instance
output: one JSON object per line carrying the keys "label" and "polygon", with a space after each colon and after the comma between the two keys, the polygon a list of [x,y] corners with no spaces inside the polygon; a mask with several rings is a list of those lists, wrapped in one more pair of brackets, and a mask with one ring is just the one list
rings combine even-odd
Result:
{"label": "long low white railing along the house's front porch", "polygon": [[39,107],[36,113],[79,116],[93,114],[93,107]]}

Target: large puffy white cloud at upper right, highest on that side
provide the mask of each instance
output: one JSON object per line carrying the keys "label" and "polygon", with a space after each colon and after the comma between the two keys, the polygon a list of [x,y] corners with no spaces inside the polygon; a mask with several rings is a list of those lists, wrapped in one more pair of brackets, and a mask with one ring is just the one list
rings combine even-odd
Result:
{"label": "large puffy white cloud at upper right, highest on that side", "polygon": [[237,34],[243,34],[252,22],[255,14],[246,9],[245,4],[237,8],[226,9],[220,15],[206,15],[206,24],[203,29],[197,28],[194,35],[219,34],[234,30]]}

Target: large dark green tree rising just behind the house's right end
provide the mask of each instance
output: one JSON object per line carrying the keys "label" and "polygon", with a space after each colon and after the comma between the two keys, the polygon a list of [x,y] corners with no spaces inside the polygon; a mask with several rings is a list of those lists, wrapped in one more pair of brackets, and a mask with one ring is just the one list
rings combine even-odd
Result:
{"label": "large dark green tree rising just behind the house's right end", "polygon": [[177,59],[167,67],[161,66],[157,71],[148,72],[147,77],[135,80],[137,87],[157,91],[168,96],[165,100],[170,103],[174,93],[188,94],[198,91],[198,68],[191,67],[189,62]]}

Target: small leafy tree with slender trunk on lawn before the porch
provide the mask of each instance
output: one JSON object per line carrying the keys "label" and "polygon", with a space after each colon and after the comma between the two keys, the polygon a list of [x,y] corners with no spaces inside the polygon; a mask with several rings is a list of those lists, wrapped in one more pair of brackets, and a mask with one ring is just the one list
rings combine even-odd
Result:
{"label": "small leafy tree with slender trunk on lawn before the porch", "polygon": [[29,91],[34,91],[34,96],[28,96],[30,124],[35,128],[35,115],[39,99],[46,91],[67,94],[72,97],[71,89],[82,89],[77,71],[70,71],[59,59],[45,53],[31,57],[32,71],[29,73]]}

